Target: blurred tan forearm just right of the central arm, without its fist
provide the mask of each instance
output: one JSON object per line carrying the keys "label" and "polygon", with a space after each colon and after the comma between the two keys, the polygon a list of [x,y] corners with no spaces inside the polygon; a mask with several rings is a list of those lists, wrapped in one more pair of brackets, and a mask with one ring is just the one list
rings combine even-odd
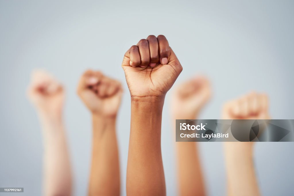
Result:
{"label": "blurred tan forearm just right of the central arm, without its fist", "polygon": [[[188,116],[185,119],[194,119],[195,116]],[[174,117],[173,124],[176,118]],[[175,129],[175,127],[174,127]],[[175,132],[175,130],[174,130]],[[204,196],[205,187],[203,182],[201,163],[198,155],[197,142],[176,142],[177,173],[179,182],[179,194]]]}

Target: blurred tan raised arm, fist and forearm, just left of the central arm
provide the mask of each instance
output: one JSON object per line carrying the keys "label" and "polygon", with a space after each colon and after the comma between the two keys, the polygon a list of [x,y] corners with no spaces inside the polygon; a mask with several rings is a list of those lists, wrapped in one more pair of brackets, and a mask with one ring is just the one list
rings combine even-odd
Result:
{"label": "blurred tan raised arm, fist and forearm, just left of the central arm", "polygon": [[86,71],[78,84],[77,93],[90,110],[93,122],[90,196],[120,194],[115,126],[122,92],[118,81],[99,71]]}

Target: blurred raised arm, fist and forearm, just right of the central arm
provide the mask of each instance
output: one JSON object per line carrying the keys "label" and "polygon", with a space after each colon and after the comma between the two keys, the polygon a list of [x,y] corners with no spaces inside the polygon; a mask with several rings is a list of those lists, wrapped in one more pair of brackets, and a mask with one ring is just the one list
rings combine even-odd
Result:
{"label": "blurred raised arm, fist and forearm, just right of the central arm", "polygon": [[[195,77],[179,85],[171,102],[173,126],[176,119],[197,119],[210,97],[211,87],[205,77]],[[176,152],[179,195],[206,195],[197,142],[176,142]]]}

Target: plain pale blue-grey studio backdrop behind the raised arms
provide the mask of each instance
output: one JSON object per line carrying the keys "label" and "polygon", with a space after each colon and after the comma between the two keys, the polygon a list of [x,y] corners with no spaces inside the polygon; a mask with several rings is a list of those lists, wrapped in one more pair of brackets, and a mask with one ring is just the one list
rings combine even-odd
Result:
{"label": "plain pale blue-grey studio backdrop behind the raised arms", "polygon": [[[254,90],[268,93],[273,119],[293,119],[293,19],[293,1],[1,0],[0,187],[24,187],[24,195],[41,195],[42,135],[26,88],[31,71],[44,68],[66,88],[74,195],[87,194],[91,116],[76,86],[92,68],[124,87],[117,136],[121,193],[126,195],[130,95],[121,62],[130,46],[150,34],[165,35],[183,66],[175,85],[197,74],[210,78],[213,96],[198,118],[219,119],[225,101]],[[161,146],[167,195],[176,195],[170,96],[163,109]],[[293,195],[294,143],[255,147],[263,195]],[[208,195],[225,195],[222,143],[200,143],[200,151]]]}

